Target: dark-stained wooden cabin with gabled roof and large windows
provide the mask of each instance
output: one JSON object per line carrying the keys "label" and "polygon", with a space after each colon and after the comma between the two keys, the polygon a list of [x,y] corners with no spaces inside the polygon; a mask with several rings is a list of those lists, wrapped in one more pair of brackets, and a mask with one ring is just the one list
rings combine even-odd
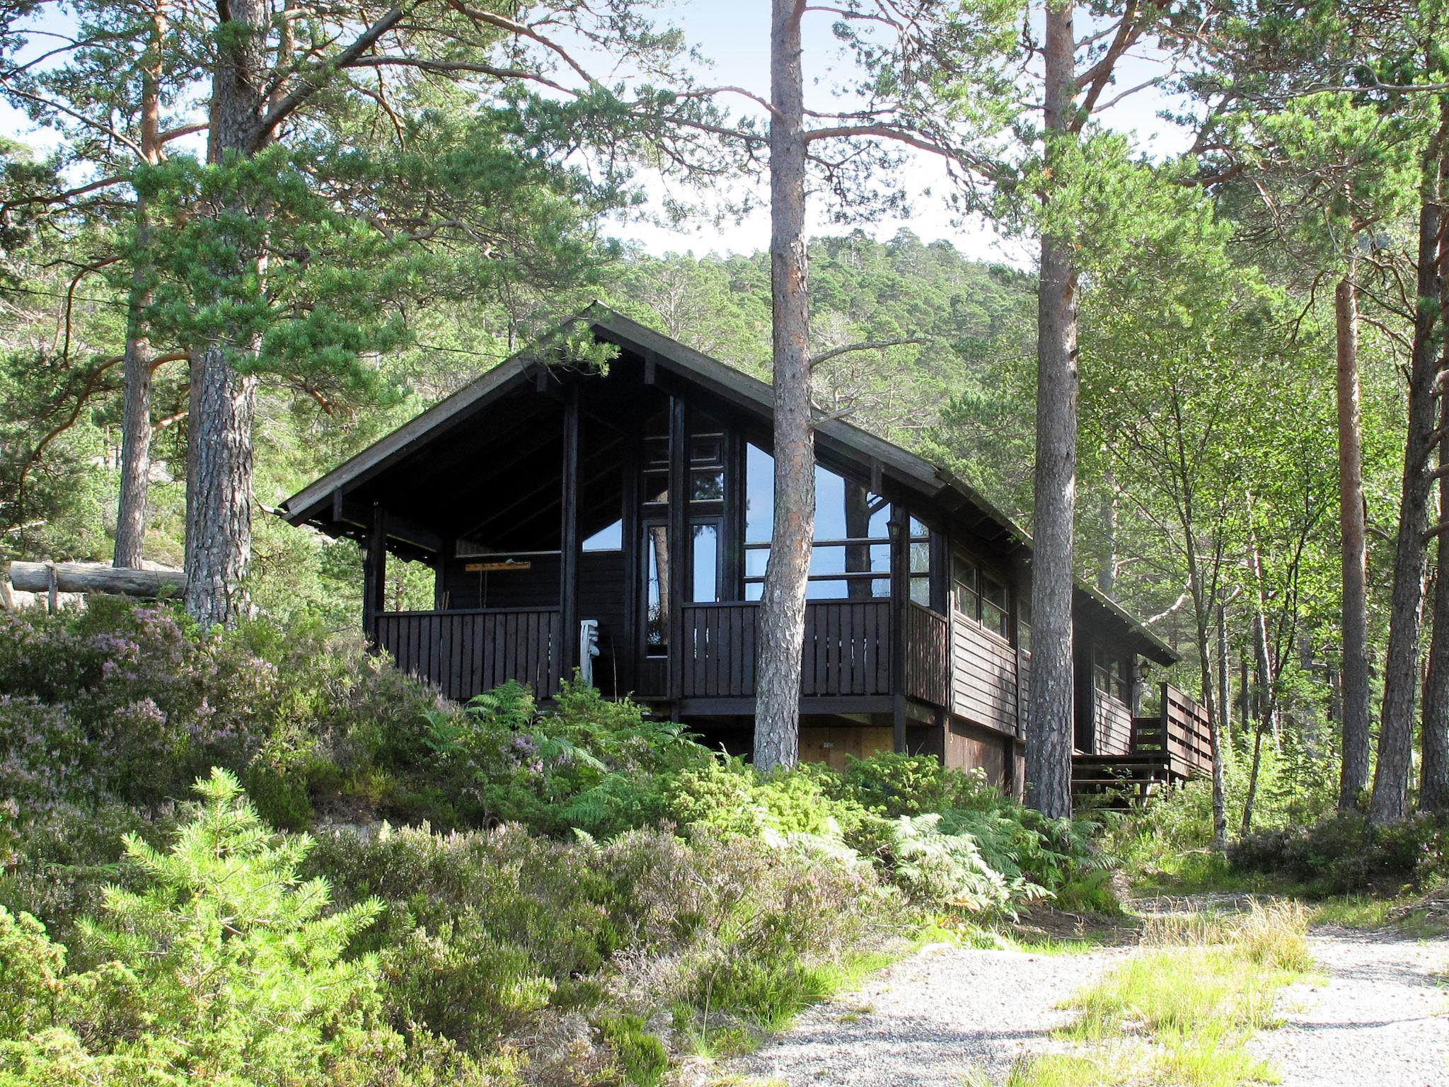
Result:
{"label": "dark-stained wooden cabin with gabled roof and large windows", "polygon": [[[600,304],[572,325],[617,349],[607,370],[523,351],[283,513],[362,542],[369,638],[449,697],[514,678],[548,699],[585,664],[606,694],[749,751],[769,386]],[[1019,786],[1029,538],[959,478],[845,420],[819,425],[816,454],[801,757],[932,752]],[[432,610],[384,609],[390,552],[433,568]],[[1075,639],[1077,748],[1155,744],[1164,774],[1197,767],[1181,713],[1172,735],[1152,732],[1166,717],[1135,723],[1142,662],[1168,665],[1172,649],[1087,587]],[[1174,697],[1161,701],[1181,707]]]}

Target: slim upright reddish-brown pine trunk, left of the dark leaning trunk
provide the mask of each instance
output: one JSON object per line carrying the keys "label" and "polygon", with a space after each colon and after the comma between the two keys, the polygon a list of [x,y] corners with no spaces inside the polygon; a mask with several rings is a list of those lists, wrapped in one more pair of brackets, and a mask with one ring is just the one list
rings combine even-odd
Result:
{"label": "slim upright reddish-brown pine trunk, left of the dark leaning trunk", "polygon": [[1368,788],[1368,546],[1364,530],[1364,451],[1359,419],[1358,288],[1353,264],[1333,291],[1337,332],[1339,526],[1343,545],[1343,765],[1339,810]]}

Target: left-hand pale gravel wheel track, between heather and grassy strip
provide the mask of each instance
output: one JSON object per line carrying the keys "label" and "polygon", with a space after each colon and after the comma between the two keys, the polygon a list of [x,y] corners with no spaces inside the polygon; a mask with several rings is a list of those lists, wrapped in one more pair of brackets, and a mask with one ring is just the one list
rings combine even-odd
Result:
{"label": "left-hand pale gravel wheel track, between heather and grassy strip", "polygon": [[1056,1004],[1124,954],[932,945],[859,993],[810,1009],[733,1071],[790,1087],[956,1087],[971,1071],[1001,1083],[1068,1020]]}

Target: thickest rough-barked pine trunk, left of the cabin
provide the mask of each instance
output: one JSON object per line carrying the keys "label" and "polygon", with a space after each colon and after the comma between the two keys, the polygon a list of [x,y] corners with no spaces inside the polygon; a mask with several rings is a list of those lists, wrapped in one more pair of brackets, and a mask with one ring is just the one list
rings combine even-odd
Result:
{"label": "thickest rough-barked pine trunk, left of the cabin", "polygon": [[[264,0],[232,0],[222,26],[212,80],[207,162],[249,158],[264,139],[267,109]],[[213,209],[262,213],[251,207]],[[265,274],[261,252],[236,245],[219,258],[219,280]],[[252,554],[252,417],[256,378],[233,362],[255,354],[256,342],[239,329],[220,328],[191,357],[190,446],[187,472],[185,607],[201,626],[233,622],[242,609],[243,580]]]}

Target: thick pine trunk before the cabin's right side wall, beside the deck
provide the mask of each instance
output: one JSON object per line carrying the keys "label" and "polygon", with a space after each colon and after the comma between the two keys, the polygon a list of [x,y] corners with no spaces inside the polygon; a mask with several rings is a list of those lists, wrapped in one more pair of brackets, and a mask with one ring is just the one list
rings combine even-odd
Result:
{"label": "thick pine trunk before the cabin's right side wall, beside the deck", "polygon": [[[1075,99],[1074,0],[1046,6],[1046,165],[1061,183]],[[1048,204],[1052,196],[1045,196]],[[1051,210],[1051,209],[1049,209]],[[1048,222],[1056,216],[1049,215]],[[1053,228],[1059,229],[1059,228]],[[1077,267],[1069,238],[1042,233],[1037,284],[1036,478],[1032,557],[1032,710],[1026,803],[1072,810],[1072,515],[1077,503]]]}

